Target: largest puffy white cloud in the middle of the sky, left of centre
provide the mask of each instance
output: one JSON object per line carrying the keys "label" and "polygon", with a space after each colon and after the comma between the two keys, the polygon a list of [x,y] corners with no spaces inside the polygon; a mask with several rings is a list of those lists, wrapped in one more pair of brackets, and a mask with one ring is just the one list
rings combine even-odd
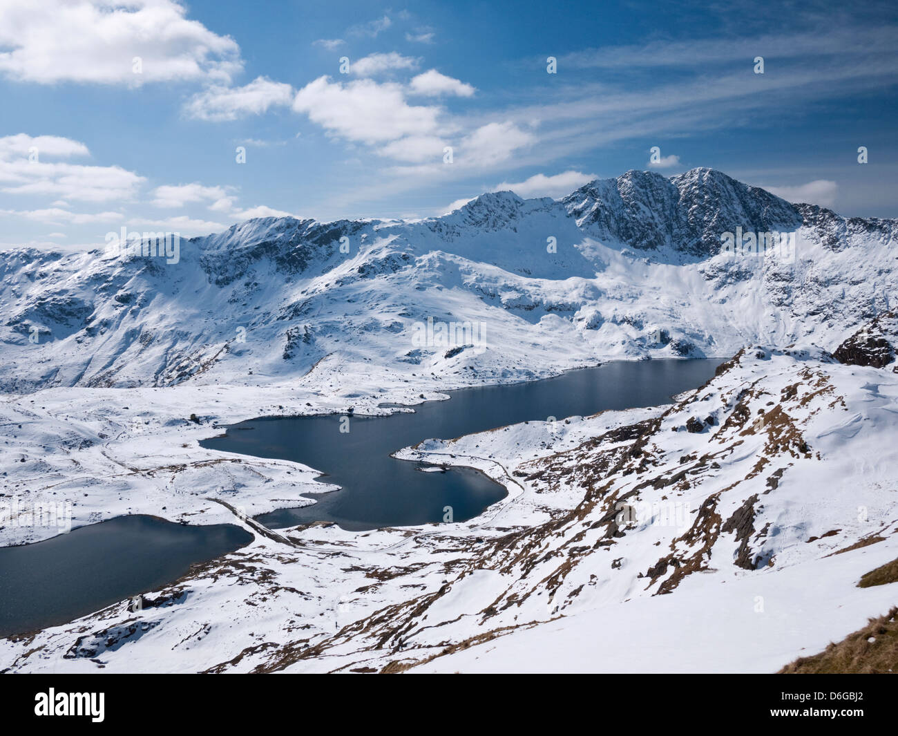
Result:
{"label": "largest puffy white cloud in the middle of the sky, left of centre", "polygon": [[359,79],[332,83],[327,76],[296,93],[293,108],[331,134],[368,144],[431,135],[439,108],[409,105],[400,84]]}

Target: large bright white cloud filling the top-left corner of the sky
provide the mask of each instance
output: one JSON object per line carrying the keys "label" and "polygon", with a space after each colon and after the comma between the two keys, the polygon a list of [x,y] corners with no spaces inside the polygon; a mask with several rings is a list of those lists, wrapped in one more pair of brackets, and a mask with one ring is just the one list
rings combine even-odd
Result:
{"label": "large bright white cloud filling the top-left corner of the sky", "polygon": [[4,2],[0,73],[40,84],[229,81],[242,67],[240,47],[186,12],[175,0]]}

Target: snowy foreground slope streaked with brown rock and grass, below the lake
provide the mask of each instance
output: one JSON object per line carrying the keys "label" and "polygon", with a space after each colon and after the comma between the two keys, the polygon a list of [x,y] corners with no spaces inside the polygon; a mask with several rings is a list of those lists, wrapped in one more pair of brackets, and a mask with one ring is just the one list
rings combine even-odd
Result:
{"label": "snowy foreground slope streaked with brown rock and grass, below the lake", "polygon": [[775,671],[894,605],[857,582],[898,556],[896,407],[892,364],[754,346],[670,406],[427,441],[407,457],[509,497],[257,535],[136,613],[0,642],[0,669]]}

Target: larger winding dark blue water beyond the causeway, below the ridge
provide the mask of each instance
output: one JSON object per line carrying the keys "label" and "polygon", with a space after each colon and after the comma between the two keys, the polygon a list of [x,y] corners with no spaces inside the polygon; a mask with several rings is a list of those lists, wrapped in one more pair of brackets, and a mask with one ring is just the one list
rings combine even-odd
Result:
{"label": "larger winding dark blue water beyond the causeway, below the ridge", "polygon": [[[447,392],[447,401],[418,404],[388,417],[277,417],[242,421],[204,448],[293,460],[320,470],[340,490],[310,494],[317,501],[258,519],[270,528],[313,521],[350,530],[442,522],[444,509],[464,521],[501,500],[505,489],[468,468],[422,473],[420,464],[390,457],[423,439],[453,439],[514,424],[669,403],[671,396],[703,384],[719,359],[615,361],[559,377]],[[548,438],[547,438],[548,439]]]}

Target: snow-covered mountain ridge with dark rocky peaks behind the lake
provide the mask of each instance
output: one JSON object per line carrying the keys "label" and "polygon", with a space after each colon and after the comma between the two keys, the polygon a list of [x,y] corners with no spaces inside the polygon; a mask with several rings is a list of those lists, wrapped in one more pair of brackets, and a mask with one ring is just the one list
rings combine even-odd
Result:
{"label": "snow-covered mountain ridge with dark rocky peaks behind the lake", "polygon": [[[736,228],[797,232],[796,257],[720,253]],[[313,366],[335,390],[359,370],[465,386],[759,341],[837,344],[894,306],[896,238],[898,220],[694,169],[632,171],[563,200],[489,193],[418,221],[256,219],[181,241],[172,263],[6,251],[0,388],[265,386]],[[418,345],[428,317],[481,324],[485,339]]]}

